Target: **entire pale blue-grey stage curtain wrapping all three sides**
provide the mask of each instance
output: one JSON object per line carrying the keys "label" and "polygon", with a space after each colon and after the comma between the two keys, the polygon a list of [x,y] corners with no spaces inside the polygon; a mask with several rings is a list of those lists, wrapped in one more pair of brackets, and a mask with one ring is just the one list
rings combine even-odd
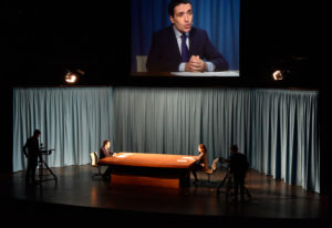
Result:
{"label": "entire pale blue-grey stage curtain wrapping all three sides", "polygon": [[105,138],[116,152],[197,154],[237,144],[251,168],[320,191],[317,91],[201,87],[15,89],[13,169],[34,128],[55,147],[51,166],[90,163]]}

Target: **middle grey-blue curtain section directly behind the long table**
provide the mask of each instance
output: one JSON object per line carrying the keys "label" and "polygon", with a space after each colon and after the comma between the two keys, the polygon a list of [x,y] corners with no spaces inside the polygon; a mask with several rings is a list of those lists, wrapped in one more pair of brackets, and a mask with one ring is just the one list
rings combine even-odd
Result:
{"label": "middle grey-blue curtain section directly behind the long table", "polygon": [[249,90],[116,89],[115,143],[122,151],[190,155],[204,143],[209,162],[227,157],[232,143],[249,148],[250,94]]}

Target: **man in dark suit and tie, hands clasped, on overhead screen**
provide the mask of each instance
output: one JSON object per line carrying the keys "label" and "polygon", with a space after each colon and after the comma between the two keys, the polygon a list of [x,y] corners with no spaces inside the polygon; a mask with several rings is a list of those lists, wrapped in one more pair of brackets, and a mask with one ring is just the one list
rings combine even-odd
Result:
{"label": "man in dark suit and tie, hands clasped, on overhead screen", "polygon": [[206,31],[193,28],[189,0],[168,4],[172,25],[153,35],[146,68],[149,72],[227,71],[228,63],[209,41]]}

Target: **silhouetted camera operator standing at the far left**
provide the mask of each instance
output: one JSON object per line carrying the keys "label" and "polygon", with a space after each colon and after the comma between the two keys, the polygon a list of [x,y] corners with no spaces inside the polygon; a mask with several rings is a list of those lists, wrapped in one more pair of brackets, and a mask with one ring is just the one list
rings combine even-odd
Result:
{"label": "silhouetted camera operator standing at the far left", "polygon": [[28,138],[25,145],[23,146],[23,153],[28,158],[28,169],[25,174],[27,184],[35,184],[35,168],[38,166],[38,157],[40,156],[39,152],[39,141],[41,132],[34,129],[33,136]]}

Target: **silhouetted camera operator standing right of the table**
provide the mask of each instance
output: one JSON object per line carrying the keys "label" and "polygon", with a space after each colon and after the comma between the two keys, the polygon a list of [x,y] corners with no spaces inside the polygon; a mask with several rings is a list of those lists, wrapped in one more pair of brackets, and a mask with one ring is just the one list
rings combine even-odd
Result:
{"label": "silhouetted camera operator standing right of the table", "polygon": [[238,146],[230,147],[231,156],[229,159],[229,172],[234,176],[235,201],[238,200],[238,188],[240,187],[241,201],[245,200],[245,178],[249,168],[248,159],[245,154],[238,152]]}

